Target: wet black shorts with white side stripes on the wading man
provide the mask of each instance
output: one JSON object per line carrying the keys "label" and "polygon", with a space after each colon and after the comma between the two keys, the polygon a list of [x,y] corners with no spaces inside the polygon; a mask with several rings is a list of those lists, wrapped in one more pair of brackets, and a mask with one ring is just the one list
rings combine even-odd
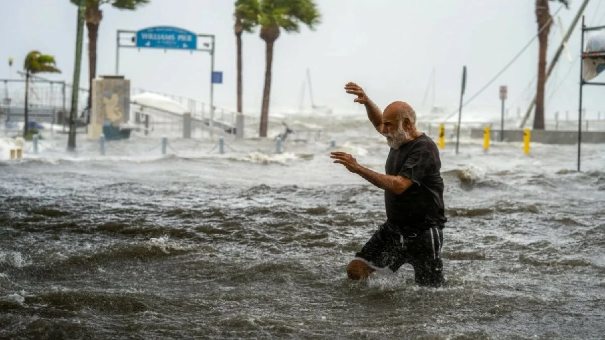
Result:
{"label": "wet black shorts with white side stripes on the wading man", "polygon": [[414,268],[414,280],[420,286],[439,287],[444,282],[441,247],[443,230],[432,227],[416,234],[402,235],[387,223],[382,224],[370,240],[355,254],[372,269],[396,272],[405,263]]}

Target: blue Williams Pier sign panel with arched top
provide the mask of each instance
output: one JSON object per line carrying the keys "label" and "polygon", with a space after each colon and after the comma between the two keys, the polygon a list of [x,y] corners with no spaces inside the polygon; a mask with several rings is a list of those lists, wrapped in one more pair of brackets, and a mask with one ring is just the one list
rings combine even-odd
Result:
{"label": "blue Williams Pier sign panel with arched top", "polygon": [[197,35],[178,27],[149,27],[137,31],[137,47],[195,50],[197,49]]}

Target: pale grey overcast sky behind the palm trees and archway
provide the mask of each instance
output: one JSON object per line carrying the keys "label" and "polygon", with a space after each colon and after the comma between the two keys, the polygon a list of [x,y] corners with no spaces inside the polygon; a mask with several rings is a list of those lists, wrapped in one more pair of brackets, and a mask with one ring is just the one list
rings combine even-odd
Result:
{"label": "pale grey overcast sky behind the palm trees and archway", "polygon": [[[224,71],[224,83],[215,86],[215,103],[235,107],[235,36],[232,0],[152,0],[139,11],[103,8],[99,30],[98,74],[115,68],[116,30],[139,30],[155,25],[174,25],[217,37],[215,69]],[[605,0],[590,1],[587,24],[605,25]],[[73,73],[76,7],[68,0],[0,0],[0,57],[15,58],[16,67],[30,50],[56,56],[68,79]],[[534,0],[319,0],[323,15],[316,31],[282,34],[275,44],[271,106],[298,108],[306,68],[310,68],[313,95],[318,105],[335,111],[357,111],[353,98],[342,90],[345,82],[358,82],[370,97],[384,107],[405,100],[420,110],[431,74],[436,68],[436,104],[455,110],[460,91],[462,65],[468,67],[466,98],[482,87],[537,32]],[[572,0],[560,16],[567,27],[580,6]],[[560,5],[551,2],[551,13]],[[84,32],[86,34],[86,31]],[[560,42],[558,27],[551,30],[549,59]],[[260,111],[264,42],[258,33],[243,38],[244,108]],[[580,50],[577,28],[569,42],[572,58]],[[468,106],[477,114],[499,113],[499,85],[508,85],[509,104],[517,99],[535,76],[537,41],[485,93]],[[85,51],[86,53],[86,51]],[[209,56],[182,51],[122,50],[120,71],[133,87],[183,94],[208,100]],[[82,84],[87,86],[87,54],[82,64]],[[560,60],[547,86],[547,116],[578,106],[579,62],[563,82],[572,64]],[[8,77],[7,62],[0,64],[0,77]],[[598,77],[603,81],[603,75]],[[597,80],[597,79],[595,79]],[[562,82],[548,100],[555,84]],[[535,85],[532,85],[532,90]],[[605,88],[585,87],[585,106],[590,116],[605,112]],[[307,91],[308,93],[308,91]],[[429,96],[430,97],[430,96]],[[525,110],[529,94],[520,102]],[[309,106],[308,97],[306,106]],[[516,111],[516,109],[515,109]]]}

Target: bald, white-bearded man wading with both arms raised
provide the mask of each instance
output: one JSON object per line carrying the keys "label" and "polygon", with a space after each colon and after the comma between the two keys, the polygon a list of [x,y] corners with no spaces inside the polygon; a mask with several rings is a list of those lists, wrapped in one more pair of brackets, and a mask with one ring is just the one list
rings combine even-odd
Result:
{"label": "bald, white-bearded man wading with both arms raised", "polygon": [[420,286],[439,287],[444,282],[441,246],[443,226],[443,179],[439,172],[439,150],[427,135],[416,130],[416,113],[405,102],[393,102],[384,113],[356,83],[345,85],[354,100],[365,105],[368,118],[391,147],[386,175],[359,165],[344,152],[332,152],[341,163],[378,188],[384,189],[387,221],[347,266],[353,280],[370,276],[374,270],[395,272],[405,263],[414,268]]}

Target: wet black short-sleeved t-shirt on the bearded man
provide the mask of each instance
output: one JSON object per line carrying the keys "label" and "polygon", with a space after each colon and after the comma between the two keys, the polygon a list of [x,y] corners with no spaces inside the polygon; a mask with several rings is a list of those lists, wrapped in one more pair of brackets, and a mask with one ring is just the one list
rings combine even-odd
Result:
{"label": "wet black short-sleeved t-shirt on the bearded man", "polygon": [[413,184],[401,195],[384,191],[388,223],[400,230],[443,227],[443,178],[439,149],[422,134],[399,149],[391,148],[385,166],[387,175],[402,175]]}

